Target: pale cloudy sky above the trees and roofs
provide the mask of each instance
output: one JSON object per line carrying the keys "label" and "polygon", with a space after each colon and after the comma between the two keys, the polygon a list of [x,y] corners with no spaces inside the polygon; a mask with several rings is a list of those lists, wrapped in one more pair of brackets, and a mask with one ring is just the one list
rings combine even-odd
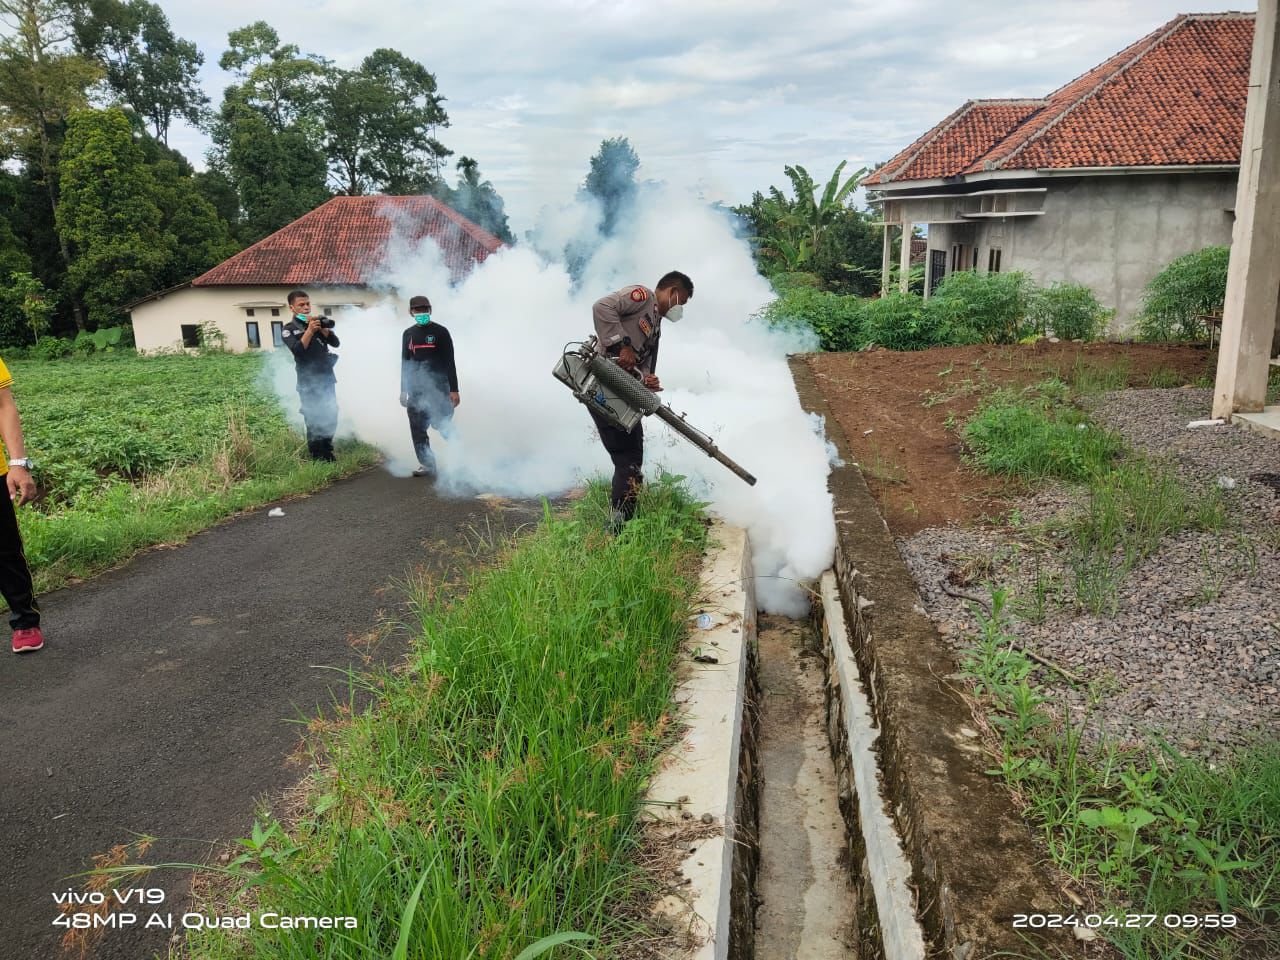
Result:
{"label": "pale cloudy sky above the trees and roofs", "polygon": [[[447,97],[445,146],[474,156],[527,229],[566,200],[600,140],[640,174],[736,204],[801,164],[826,179],[892,156],[968,99],[1042,96],[1179,13],[1184,0],[160,0],[205,52],[215,105],[227,33],[265,19],[355,67],[379,46]],[[207,147],[179,129],[193,160]]]}

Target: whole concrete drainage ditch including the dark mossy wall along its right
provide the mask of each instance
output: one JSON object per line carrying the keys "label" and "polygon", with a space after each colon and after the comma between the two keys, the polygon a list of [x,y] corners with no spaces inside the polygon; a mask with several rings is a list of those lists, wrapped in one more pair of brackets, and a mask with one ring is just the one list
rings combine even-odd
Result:
{"label": "whole concrete drainage ditch including the dark mossy wall along its right", "polygon": [[745,532],[712,534],[707,628],[686,637],[677,694],[686,732],[646,804],[650,836],[678,851],[654,909],[669,955],[1084,956],[1069,931],[1012,928],[1070,904],[984,773],[951,654],[829,417],[827,430],[849,466],[831,477],[836,564],[812,622],[758,621]]}

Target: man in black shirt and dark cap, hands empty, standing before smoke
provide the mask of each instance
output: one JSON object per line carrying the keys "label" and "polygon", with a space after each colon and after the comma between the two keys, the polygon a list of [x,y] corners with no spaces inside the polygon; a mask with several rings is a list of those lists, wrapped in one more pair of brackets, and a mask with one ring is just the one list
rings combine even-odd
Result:
{"label": "man in black shirt and dark cap, hands empty, standing before smoke", "polygon": [[426,429],[443,430],[458,406],[458,370],[453,362],[453,338],[431,320],[431,301],[408,302],[413,325],[401,338],[401,406],[408,411],[417,468],[413,476],[435,475],[435,454]]}

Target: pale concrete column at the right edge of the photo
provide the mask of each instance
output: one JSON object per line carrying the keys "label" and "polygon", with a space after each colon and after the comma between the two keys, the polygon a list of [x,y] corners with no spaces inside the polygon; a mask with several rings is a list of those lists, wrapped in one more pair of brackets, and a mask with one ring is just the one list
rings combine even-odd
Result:
{"label": "pale concrete column at the right edge of the photo", "polygon": [[1277,0],[1258,0],[1235,195],[1231,262],[1226,274],[1222,340],[1213,416],[1252,413],[1266,401],[1272,338],[1280,319],[1280,46]]}

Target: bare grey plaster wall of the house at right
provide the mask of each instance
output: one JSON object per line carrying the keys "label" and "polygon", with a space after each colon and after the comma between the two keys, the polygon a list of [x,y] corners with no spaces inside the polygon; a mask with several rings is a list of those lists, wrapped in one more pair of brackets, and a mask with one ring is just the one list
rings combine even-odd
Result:
{"label": "bare grey plaster wall of the house at right", "polygon": [[[929,225],[929,251],[966,246],[977,269],[1000,250],[1000,270],[1021,270],[1037,283],[1083,283],[1116,311],[1114,333],[1132,329],[1147,283],[1171,260],[1231,242],[1234,173],[1119,174],[1044,178],[1042,216],[993,218]],[[1029,196],[1023,204],[1030,205]],[[902,202],[901,216],[923,221],[955,216],[956,201]],[[1024,207],[1027,209],[1027,207]],[[918,219],[919,218],[919,219]]]}

